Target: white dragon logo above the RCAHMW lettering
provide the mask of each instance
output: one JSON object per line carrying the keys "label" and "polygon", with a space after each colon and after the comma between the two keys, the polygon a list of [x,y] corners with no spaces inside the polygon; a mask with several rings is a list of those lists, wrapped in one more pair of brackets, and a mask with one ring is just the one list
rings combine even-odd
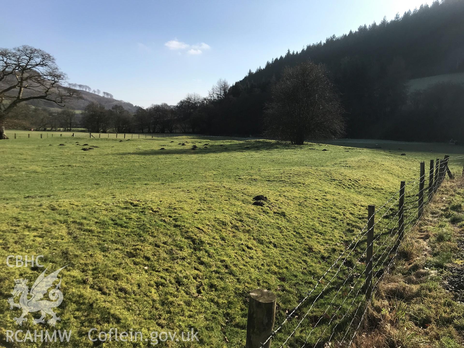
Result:
{"label": "white dragon logo above the RCAHMW lettering", "polygon": [[[67,266],[67,265],[66,265]],[[64,267],[66,267],[64,266]],[[63,293],[59,290],[61,285],[61,279],[56,287],[48,292],[48,297],[51,301],[42,299],[47,290],[53,286],[53,282],[58,280],[58,273],[64,268],[61,267],[59,270],[54,271],[45,277],[45,271],[48,270],[48,267],[42,274],[37,278],[37,280],[32,285],[31,290],[26,285],[29,281],[28,279],[15,279],[14,280],[14,289],[11,292],[13,297],[8,298],[8,303],[10,304],[10,309],[13,307],[18,307],[23,310],[22,315],[19,318],[14,318],[16,323],[22,325],[27,319],[25,316],[30,312],[38,312],[42,314],[39,319],[34,319],[32,322],[34,324],[44,323],[44,318],[46,314],[52,316],[47,322],[48,324],[55,326],[58,320],[61,320],[59,316],[52,311],[52,308],[58,307],[63,302]],[[14,303],[14,297],[21,295],[19,298],[19,303]],[[32,296],[28,298],[28,296]]]}

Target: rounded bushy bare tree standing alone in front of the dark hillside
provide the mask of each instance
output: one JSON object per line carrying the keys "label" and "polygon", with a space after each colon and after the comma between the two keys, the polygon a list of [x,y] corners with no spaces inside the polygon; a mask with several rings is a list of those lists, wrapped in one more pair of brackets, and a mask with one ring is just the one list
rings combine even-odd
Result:
{"label": "rounded bushy bare tree standing alone in front of the dark hillside", "polygon": [[305,62],[285,68],[267,105],[267,133],[303,145],[312,139],[343,134],[342,107],[321,64]]}

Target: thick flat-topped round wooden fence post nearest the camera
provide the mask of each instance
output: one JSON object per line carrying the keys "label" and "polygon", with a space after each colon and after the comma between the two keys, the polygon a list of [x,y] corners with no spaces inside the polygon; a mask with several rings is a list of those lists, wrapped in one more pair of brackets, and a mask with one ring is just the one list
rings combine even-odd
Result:
{"label": "thick flat-topped round wooden fence post nearest the camera", "polygon": [[269,290],[256,289],[250,292],[248,319],[246,322],[245,348],[269,348],[276,318],[276,295]]}

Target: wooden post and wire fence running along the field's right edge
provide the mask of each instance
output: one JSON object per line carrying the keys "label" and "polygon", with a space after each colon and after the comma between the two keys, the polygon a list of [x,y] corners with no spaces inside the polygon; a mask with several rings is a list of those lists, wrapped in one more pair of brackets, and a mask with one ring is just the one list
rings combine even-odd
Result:
{"label": "wooden post and wire fence running along the field's right edge", "polygon": [[[267,326],[266,335],[259,333],[256,327],[253,332],[247,330],[246,347],[269,348],[274,341],[279,348],[298,342],[301,348],[316,347],[319,343],[350,347],[365,317],[371,295],[394,264],[404,236],[418,224],[425,206],[436,195],[446,176],[452,179],[464,175],[463,164],[464,156],[445,156],[441,160],[431,160],[427,175],[425,163],[421,162],[417,179],[407,183],[401,181],[400,189],[377,209],[369,206],[366,225],[296,307],[284,316],[277,329],[270,333]],[[367,240],[364,240],[366,237]],[[342,277],[341,285],[333,283],[337,276]],[[313,293],[317,296],[308,303]],[[303,308],[304,312],[300,315],[299,310]],[[343,316],[337,315],[341,309]],[[315,315],[309,316],[312,312]],[[308,322],[309,317],[316,319],[311,323]],[[253,313],[249,309],[248,320],[252,318]],[[289,327],[296,318],[298,320]],[[274,322],[275,317],[267,320]],[[287,334],[284,327],[288,327],[285,329]],[[303,329],[306,330],[304,333]],[[253,335],[260,335],[261,339]],[[255,342],[260,343],[257,345]]]}

